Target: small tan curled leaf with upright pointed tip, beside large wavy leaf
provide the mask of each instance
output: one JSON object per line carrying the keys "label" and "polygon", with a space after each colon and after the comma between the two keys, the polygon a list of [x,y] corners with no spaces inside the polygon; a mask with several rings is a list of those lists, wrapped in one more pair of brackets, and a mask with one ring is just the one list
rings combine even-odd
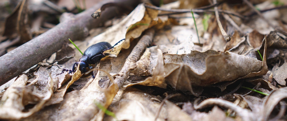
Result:
{"label": "small tan curled leaf with upright pointed tip, beside large wavy leaf", "polygon": [[157,65],[155,67],[155,69],[153,70],[153,75],[152,77],[147,77],[147,79],[137,82],[137,83],[131,83],[128,84],[126,86],[123,87],[130,87],[133,85],[145,85],[145,86],[157,86],[157,87],[161,87],[161,88],[166,88],[166,83],[164,81],[164,77],[163,77],[163,54],[162,51],[160,49],[157,49],[158,53],[157,53]]}

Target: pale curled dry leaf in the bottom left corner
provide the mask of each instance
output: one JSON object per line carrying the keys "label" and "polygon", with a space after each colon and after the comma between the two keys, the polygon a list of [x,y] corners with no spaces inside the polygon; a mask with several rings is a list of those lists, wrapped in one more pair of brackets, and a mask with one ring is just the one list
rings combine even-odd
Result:
{"label": "pale curled dry leaf in the bottom left corner", "polygon": [[[43,72],[47,74],[47,71]],[[38,74],[43,72],[38,72]],[[0,119],[20,119],[28,117],[44,106],[44,103],[49,100],[53,94],[54,82],[50,81],[49,76],[46,78],[43,74],[37,75],[36,77],[35,80],[26,86],[27,76],[22,74],[5,91],[0,101]],[[36,83],[37,86],[34,86]],[[26,109],[25,106],[28,104],[36,105],[31,109]]]}

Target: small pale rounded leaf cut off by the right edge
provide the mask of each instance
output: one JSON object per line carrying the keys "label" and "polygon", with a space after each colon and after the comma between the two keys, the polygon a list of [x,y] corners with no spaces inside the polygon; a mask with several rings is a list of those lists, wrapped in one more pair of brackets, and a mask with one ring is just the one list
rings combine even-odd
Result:
{"label": "small pale rounded leaf cut off by the right edge", "polygon": [[286,85],[287,79],[287,62],[285,62],[282,66],[278,66],[278,63],[272,68],[273,78],[280,84]]}

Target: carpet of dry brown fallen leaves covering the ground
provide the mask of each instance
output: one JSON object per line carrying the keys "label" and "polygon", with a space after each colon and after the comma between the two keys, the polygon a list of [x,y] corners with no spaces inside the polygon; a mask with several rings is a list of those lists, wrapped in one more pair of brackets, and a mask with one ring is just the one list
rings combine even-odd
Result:
{"label": "carpet of dry brown fallen leaves covering the ground", "polygon": [[[162,8],[182,9],[183,2],[166,4]],[[198,2],[195,6],[201,4]],[[65,72],[57,75],[63,68],[71,68],[77,57],[81,56],[78,52],[75,55],[71,47],[63,45],[61,51],[20,75],[5,90],[0,96],[0,119],[286,119],[284,99],[287,43],[284,34],[274,31],[260,17],[251,17],[246,22],[236,16],[226,17],[226,13],[221,13],[225,15],[220,18],[222,27],[228,35],[232,35],[231,41],[226,42],[214,15],[203,20],[204,16],[195,12],[200,40],[198,43],[191,13],[160,16],[168,12],[145,5],[151,4],[138,5],[129,15],[120,18],[121,22],[106,30],[97,28],[104,32],[79,44],[80,48],[85,49],[98,42],[106,41],[114,45],[125,39],[114,49],[105,52],[110,55],[96,64],[92,72],[95,78],[81,74],[79,67],[73,74]],[[275,7],[268,1],[256,6],[258,9]],[[218,9],[238,10],[241,13],[249,9],[246,5],[241,7],[244,9],[228,3],[218,5]],[[280,14],[285,15],[275,9],[264,13],[264,17],[277,24]],[[153,43],[135,63],[128,64],[126,74],[130,75],[127,78],[129,81],[123,80],[125,82],[122,86],[117,80],[123,76],[119,72],[126,64],[131,49],[139,41],[138,38],[143,37],[144,31],[149,28],[156,28]],[[286,25],[282,28],[286,28]],[[263,60],[257,49],[263,55]],[[74,88],[73,83],[75,86],[77,80],[86,81],[79,83],[81,87],[78,85],[79,88]],[[237,83],[240,85],[234,85]],[[256,85],[253,89],[269,95],[250,93],[250,90],[240,88],[241,85],[250,88]],[[219,87],[222,94],[209,95],[218,90],[213,87]],[[172,95],[177,96],[168,98]],[[231,99],[227,99],[228,96]],[[186,98],[185,101],[182,98]],[[114,113],[114,117],[105,115],[98,105]],[[214,107],[207,108],[209,106]]]}

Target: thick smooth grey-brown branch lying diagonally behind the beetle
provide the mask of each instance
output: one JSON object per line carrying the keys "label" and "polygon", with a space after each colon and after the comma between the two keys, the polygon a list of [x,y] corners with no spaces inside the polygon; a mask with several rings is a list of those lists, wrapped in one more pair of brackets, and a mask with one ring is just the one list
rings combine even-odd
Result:
{"label": "thick smooth grey-brown branch lying diagonally behind the beetle", "polygon": [[105,0],[78,15],[66,18],[49,31],[3,55],[0,57],[0,85],[61,49],[68,38],[83,39],[89,34],[90,29],[99,27],[103,22],[116,16],[117,13],[121,13],[116,12],[119,9],[113,7],[105,10],[99,19],[91,17],[95,10],[112,1],[128,6],[136,6],[139,3],[139,0]]}

